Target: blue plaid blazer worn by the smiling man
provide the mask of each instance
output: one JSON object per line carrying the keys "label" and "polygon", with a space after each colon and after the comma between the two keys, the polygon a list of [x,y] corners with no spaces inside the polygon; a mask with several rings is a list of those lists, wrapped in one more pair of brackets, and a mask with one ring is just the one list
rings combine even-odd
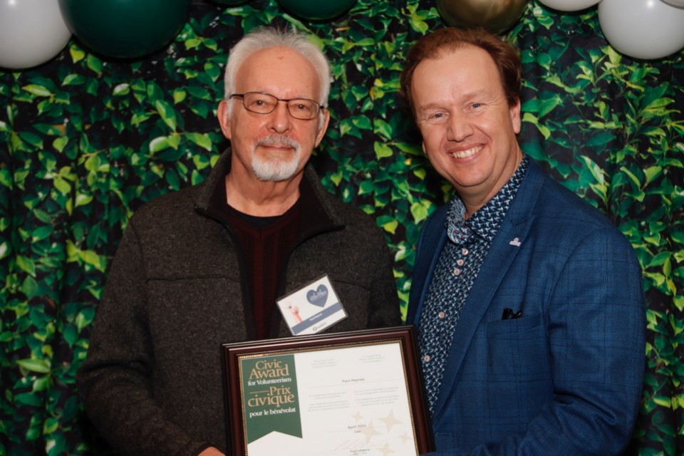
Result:
{"label": "blue plaid blazer worn by the smiling man", "polygon": [[[446,206],[430,216],[418,245],[407,315],[418,331],[446,216]],[[522,314],[504,320],[506,308]],[[627,239],[531,162],[460,314],[432,414],[435,454],[620,454],[645,331]]]}

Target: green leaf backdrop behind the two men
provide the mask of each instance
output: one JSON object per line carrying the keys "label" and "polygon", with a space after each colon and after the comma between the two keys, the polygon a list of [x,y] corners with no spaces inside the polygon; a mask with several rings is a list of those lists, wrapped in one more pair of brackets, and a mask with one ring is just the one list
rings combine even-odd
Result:
{"label": "green leaf backdrop behind the two men", "polygon": [[[313,33],[331,59],[331,128],[312,160],[385,230],[405,306],[420,227],[450,197],[396,96],[408,46],[445,26],[434,1],[360,0],[311,24],[274,0],[195,0],[171,46],[140,61],[72,39],[38,68],[0,71],[0,455],[109,453],[74,382],[108,263],[135,209],[200,182],[227,147],[215,121],[227,51],[262,24]],[[648,366],[628,453],[682,455],[684,52],[635,61],[608,45],[595,8],[534,1],[509,38],[524,150],[601,209],[643,267]]]}

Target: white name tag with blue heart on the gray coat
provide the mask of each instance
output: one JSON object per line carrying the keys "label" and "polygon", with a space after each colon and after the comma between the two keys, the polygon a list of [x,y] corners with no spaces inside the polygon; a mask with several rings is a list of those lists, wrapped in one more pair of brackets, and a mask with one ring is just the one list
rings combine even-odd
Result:
{"label": "white name tag with blue heart on the gray coat", "polygon": [[276,304],[293,336],[320,333],[347,318],[327,274],[287,294]]}

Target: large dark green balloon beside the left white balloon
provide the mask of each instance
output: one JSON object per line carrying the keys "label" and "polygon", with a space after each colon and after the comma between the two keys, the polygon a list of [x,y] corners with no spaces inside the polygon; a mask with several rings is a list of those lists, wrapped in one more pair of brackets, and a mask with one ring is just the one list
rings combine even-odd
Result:
{"label": "large dark green balloon beside the left white balloon", "polygon": [[72,33],[114,58],[138,58],[166,46],[180,31],[190,0],[59,0]]}

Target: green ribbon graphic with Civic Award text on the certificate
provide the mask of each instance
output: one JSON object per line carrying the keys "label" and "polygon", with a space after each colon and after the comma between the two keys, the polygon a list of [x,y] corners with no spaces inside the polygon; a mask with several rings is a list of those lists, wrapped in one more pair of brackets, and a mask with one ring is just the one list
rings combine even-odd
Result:
{"label": "green ribbon graphic with Civic Award text on the certificate", "polygon": [[247,443],[271,432],[301,437],[294,355],[243,358],[240,368]]}

